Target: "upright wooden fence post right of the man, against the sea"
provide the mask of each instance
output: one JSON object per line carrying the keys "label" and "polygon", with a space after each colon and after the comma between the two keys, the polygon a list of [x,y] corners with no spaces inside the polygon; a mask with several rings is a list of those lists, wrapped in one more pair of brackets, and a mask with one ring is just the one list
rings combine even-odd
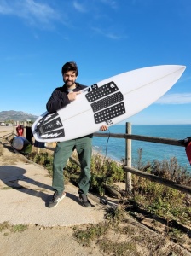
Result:
{"label": "upright wooden fence post right of the man, against the sea", "polygon": [[[131,124],[129,122],[126,123],[126,133],[131,134]],[[125,139],[125,165],[131,167],[131,140]],[[126,172],[125,174],[125,191],[130,193],[132,189],[131,184],[131,173]]]}

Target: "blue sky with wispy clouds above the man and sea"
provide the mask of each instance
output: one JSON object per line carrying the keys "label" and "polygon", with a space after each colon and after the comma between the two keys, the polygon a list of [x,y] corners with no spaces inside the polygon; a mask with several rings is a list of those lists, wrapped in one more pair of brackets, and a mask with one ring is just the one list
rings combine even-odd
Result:
{"label": "blue sky with wispy clouds above the man and sea", "polygon": [[181,79],[127,120],[191,124],[190,0],[0,0],[0,32],[0,111],[43,113],[67,61],[87,85],[175,64]]}

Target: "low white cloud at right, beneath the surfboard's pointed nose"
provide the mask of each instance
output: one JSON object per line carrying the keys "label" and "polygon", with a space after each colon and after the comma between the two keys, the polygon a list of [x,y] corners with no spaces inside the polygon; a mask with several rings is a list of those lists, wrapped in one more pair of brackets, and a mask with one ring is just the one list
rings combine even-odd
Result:
{"label": "low white cloud at right, beneath the surfboard's pointed nose", "polygon": [[156,104],[190,104],[191,93],[174,93],[162,96]]}

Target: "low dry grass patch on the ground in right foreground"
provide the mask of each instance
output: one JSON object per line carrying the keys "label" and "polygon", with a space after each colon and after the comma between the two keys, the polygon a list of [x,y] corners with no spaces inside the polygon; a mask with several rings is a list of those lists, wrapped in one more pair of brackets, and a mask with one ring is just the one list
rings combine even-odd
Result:
{"label": "low dry grass patch on the ground in right foreground", "polygon": [[166,236],[139,228],[138,232],[123,207],[107,208],[105,223],[77,226],[73,236],[84,247],[99,246],[103,255],[183,255],[182,248],[172,246]]}

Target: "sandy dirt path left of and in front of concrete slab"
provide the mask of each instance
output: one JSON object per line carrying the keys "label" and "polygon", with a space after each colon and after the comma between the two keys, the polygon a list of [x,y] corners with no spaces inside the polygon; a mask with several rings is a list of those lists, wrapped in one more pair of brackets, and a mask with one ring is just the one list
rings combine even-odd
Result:
{"label": "sandy dirt path left of and in front of concrete slab", "polygon": [[[21,154],[14,154],[9,143],[4,140],[4,137],[11,132],[10,127],[6,128],[0,127],[1,167],[15,165],[25,160],[25,157]],[[73,227],[47,228],[34,224],[28,225],[24,231],[21,230],[15,232],[9,226],[3,229],[3,224],[0,224],[0,255],[102,255],[96,248],[93,249],[79,245],[72,236]],[[92,253],[92,250],[94,253]]]}

